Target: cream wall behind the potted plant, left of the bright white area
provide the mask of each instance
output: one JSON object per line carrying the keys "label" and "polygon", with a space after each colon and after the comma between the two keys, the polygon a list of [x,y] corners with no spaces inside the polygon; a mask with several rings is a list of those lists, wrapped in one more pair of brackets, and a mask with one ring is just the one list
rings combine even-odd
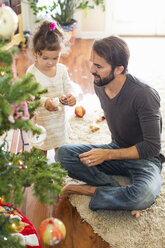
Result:
{"label": "cream wall behind the potted plant, left of the bright white area", "polygon": [[[110,0],[105,0],[106,11],[103,12],[101,7],[90,9],[85,17],[83,10],[77,10],[74,18],[77,20],[76,37],[95,39],[107,36],[109,30]],[[23,29],[33,31],[35,28],[35,17],[30,5],[22,1],[22,19]]]}

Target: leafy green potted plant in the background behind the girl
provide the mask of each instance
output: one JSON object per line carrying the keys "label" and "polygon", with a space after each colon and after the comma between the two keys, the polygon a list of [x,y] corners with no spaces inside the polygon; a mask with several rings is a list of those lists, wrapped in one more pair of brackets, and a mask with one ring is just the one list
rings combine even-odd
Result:
{"label": "leafy green potted plant in the background behind the girl", "polygon": [[33,13],[37,18],[51,16],[56,20],[65,31],[70,32],[70,42],[75,39],[74,29],[77,21],[74,19],[74,13],[77,9],[82,9],[87,13],[87,9],[94,9],[101,5],[103,11],[105,10],[104,0],[52,0],[52,4],[40,5],[39,0],[28,0]]}

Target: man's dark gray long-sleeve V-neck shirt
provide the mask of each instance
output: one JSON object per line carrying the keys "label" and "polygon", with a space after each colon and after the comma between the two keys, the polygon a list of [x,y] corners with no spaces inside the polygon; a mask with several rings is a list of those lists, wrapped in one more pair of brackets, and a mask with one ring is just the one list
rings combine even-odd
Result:
{"label": "man's dark gray long-sleeve V-neck shirt", "polygon": [[120,92],[110,99],[95,85],[112,135],[122,148],[136,146],[140,158],[157,157],[161,148],[160,97],[156,90],[127,74]]}

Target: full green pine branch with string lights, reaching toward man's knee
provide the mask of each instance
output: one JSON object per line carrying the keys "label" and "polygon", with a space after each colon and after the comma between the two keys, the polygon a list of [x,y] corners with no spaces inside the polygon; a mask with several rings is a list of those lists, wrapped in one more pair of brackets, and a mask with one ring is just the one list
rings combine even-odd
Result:
{"label": "full green pine branch with string lights, reaching toward man's knee", "polygon": [[[25,161],[24,168],[18,168]],[[8,170],[8,171],[7,171]],[[5,173],[7,171],[7,173]],[[60,163],[47,164],[41,150],[32,148],[24,154],[0,150],[0,195],[5,202],[19,206],[24,197],[24,188],[33,186],[33,194],[43,204],[54,204],[54,196],[61,193],[67,172]]]}

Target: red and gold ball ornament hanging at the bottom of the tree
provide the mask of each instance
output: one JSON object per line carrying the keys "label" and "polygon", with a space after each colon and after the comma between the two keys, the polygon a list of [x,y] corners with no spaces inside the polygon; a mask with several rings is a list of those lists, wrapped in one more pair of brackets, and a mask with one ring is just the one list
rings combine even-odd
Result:
{"label": "red and gold ball ornament hanging at the bottom of the tree", "polygon": [[46,245],[55,245],[66,236],[66,229],[63,222],[57,218],[47,218],[39,226],[39,236]]}

